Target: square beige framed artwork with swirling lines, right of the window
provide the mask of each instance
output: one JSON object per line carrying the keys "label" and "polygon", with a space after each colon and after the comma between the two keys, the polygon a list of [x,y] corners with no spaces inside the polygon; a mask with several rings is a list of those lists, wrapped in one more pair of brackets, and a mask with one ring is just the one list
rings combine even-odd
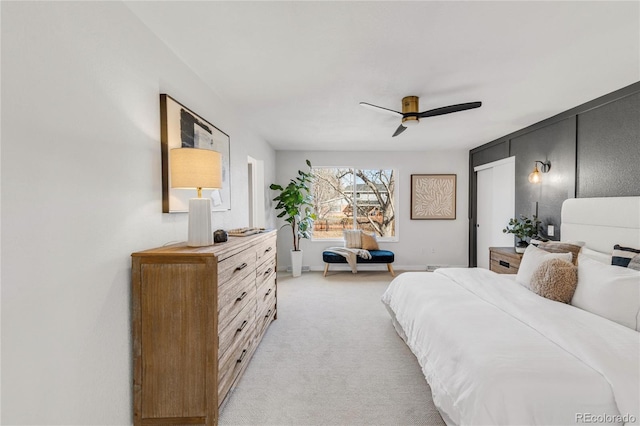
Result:
{"label": "square beige framed artwork with swirling lines, right of the window", "polygon": [[456,175],[411,175],[411,219],[455,219]]}

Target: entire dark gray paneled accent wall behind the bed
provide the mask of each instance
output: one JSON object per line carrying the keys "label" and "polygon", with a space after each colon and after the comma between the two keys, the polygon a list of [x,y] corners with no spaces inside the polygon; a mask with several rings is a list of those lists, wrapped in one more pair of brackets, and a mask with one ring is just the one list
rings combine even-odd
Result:
{"label": "entire dark gray paneled accent wall behind the bed", "polygon": [[[475,166],[516,157],[516,215],[555,225],[573,197],[640,195],[640,82],[550,117],[469,151],[469,266],[476,266]],[[531,184],[534,161],[551,161],[541,184]],[[537,205],[535,204],[537,203]]]}

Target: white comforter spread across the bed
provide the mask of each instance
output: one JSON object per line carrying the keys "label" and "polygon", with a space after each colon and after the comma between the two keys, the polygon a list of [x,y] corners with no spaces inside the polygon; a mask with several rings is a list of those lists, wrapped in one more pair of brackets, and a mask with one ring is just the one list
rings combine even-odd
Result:
{"label": "white comforter spread across the bed", "polygon": [[485,269],[404,273],[382,301],[455,424],[639,422],[634,330]]}

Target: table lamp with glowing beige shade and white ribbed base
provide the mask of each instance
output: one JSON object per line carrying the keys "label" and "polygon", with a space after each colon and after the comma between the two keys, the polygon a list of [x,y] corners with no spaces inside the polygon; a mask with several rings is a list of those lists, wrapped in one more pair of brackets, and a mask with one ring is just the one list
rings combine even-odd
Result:
{"label": "table lamp with glowing beige shade and white ribbed base", "polygon": [[222,156],[209,149],[176,148],[171,150],[170,158],[171,187],[198,190],[198,198],[189,199],[187,245],[213,245],[211,199],[202,198],[202,188],[222,188]]}

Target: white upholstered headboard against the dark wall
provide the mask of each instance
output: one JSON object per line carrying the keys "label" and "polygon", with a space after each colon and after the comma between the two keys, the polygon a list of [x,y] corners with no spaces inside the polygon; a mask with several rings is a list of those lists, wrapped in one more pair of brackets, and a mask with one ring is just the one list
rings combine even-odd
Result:
{"label": "white upholstered headboard against the dark wall", "polygon": [[611,253],[615,244],[640,247],[640,197],[571,198],[562,203],[564,241]]}

